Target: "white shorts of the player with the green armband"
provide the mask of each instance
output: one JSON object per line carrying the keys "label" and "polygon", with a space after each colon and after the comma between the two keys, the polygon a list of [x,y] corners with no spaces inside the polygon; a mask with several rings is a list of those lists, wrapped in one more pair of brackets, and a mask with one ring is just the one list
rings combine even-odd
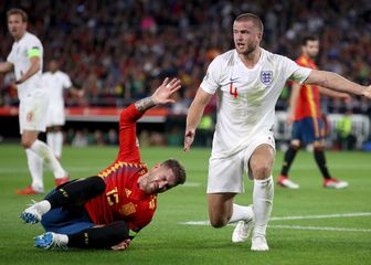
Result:
{"label": "white shorts of the player with the green armband", "polygon": [[19,124],[20,134],[23,130],[45,131],[47,95],[45,93],[35,93],[20,100]]}

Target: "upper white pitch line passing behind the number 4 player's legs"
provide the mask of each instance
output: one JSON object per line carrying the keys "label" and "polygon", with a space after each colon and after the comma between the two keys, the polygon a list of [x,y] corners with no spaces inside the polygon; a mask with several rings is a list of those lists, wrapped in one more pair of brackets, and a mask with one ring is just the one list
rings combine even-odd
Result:
{"label": "upper white pitch line passing behind the number 4 player's legs", "polygon": [[[271,221],[285,221],[285,220],[312,220],[312,219],[333,219],[333,218],[357,218],[357,216],[371,216],[371,212],[359,213],[336,213],[336,214],[322,214],[322,215],[304,215],[304,216],[283,216],[271,218]],[[188,225],[210,225],[209,221],[189,221],[180,222],[179,224]]]}

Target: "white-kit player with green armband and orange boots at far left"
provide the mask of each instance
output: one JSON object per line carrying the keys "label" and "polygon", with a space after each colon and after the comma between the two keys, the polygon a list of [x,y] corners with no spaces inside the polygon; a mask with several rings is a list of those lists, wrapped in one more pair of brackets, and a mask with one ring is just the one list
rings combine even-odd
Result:
{"label": "white-kit player with green armband and orange boots at far left", "polygon": [[56,184],[68,180],[66,171],[54,157],[51,148],[38,139],[45,131],[47,95],[42,86],[43,46],[40,40],[26,31],[28,17],[21,9],[7,12],[8,29],[14,38],[7,62],[0,63],[0,73],[14,71],[18,87],[19,121],[22,146],[25,149],[32,183],[18,194],[36,194],[44,191],[42,167],[45,161],[54,173]]}

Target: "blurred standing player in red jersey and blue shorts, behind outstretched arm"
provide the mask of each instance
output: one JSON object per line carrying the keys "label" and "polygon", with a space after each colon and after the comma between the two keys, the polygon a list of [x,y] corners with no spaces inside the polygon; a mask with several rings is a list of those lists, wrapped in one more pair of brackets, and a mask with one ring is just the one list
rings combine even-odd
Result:
{"label": "blurred standing player in red jersey and blue shorts, behind outstretched arm", "polygon": [[[317,70],[315,59],[319,52],[319,41],[314,35],[305,36],[301,41],[301,55],[296,60],[300,66]],[[292,140],[285,153],[283,168],[277,183],[289,189],[299,189],[299,186],[288,178],[288,171],[295,156],[301,146],[312,145],[314,157],[324,177],[324,187],[342,189],[348,182],[331,177],[326,165],[325,136],[326,128],[320,107],[320,94],[350,100],[347,93],[327,89],[317,85],[293,83],[287,123],[293,124]]]}

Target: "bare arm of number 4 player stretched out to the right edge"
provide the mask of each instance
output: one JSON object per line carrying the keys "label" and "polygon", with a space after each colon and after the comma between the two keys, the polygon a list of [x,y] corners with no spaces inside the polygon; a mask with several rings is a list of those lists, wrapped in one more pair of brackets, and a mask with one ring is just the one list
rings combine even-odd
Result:
{"label": "bare arm of number 4 player stretched out to the right edge", "polygon": [[332,72],[312,70],[305,83],[371,98],[371,85],[359,85]]}

